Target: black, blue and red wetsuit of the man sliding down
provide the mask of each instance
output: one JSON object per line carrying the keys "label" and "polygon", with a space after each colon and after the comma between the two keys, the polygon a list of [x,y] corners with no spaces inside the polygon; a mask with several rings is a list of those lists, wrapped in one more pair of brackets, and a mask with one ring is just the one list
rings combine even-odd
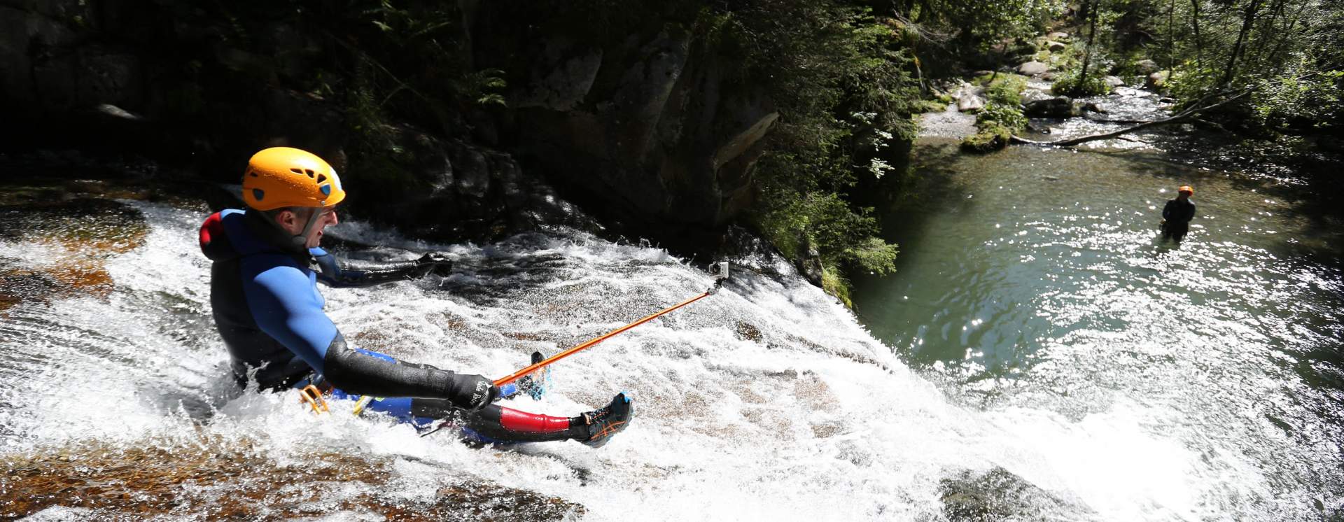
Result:
{"label": "black, blue and red wetsuit of the man sliding down", "polygon": [[[200,228],[211,266],[215,326],[241,380],[262,389],[325,382],[337,399],[376,397],[368,409],[417,424],[470,411],[465,432],[482,441],[586,439],[582,417],[550,417],[489,404],[491,381],[347,346],[323,311],[317,282],[352,287],[425,275],[426,263],[343,270],[321,248],[293,246],[257,211],[223,211]],[[316,268],[316,270],[314,270]]]}

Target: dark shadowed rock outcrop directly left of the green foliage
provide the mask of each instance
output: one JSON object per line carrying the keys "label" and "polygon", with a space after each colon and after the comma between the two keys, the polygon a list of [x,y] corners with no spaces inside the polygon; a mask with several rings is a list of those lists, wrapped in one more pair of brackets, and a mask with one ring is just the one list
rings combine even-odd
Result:
{"label": "dark shadowed rock outcrop directly left of the green foliage", "polygon": [[485,28],[527,13],[481,9],[481,66],[534,56],[504,134],[562,192],[668,229],[720,227],[751,203],[753,169],[780,114],[759,90],[728,82],[711,42],[676,24],[610,47],[519,38]]}

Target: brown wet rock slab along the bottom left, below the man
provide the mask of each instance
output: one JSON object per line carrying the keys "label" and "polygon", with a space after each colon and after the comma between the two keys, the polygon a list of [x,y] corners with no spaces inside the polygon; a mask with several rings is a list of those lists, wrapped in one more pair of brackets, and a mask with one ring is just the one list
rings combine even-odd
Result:
{"label": "brown wet rock slab along the bottom left, below the man", "polygon": [[577,503],[468,475],[450,479],[434,498],[380,498],[359,486],[386,483],[391,459],[314,452],[281,463],[267,452],[207,439],[4,455],[0,519],[58,506],[89,510],[97,519],[290,519],[347,511],[391,521],[556,521],[583,514]]}

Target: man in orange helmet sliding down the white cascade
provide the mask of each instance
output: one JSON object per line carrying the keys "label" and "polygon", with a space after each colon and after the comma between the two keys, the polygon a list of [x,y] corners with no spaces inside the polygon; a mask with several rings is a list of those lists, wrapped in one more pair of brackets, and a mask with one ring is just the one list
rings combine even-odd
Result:
{"label": "man in orange helmet sliding down the white cascade", "polygon": [[368,286],[446,271],[449,263],[430,254],[374,270],[341,268],[319,243],[323,228],[339,221],[343,199],[345,191],[327,161],[270,148],[253,156],[243,173],[247,208],[214,213],[200,227],[200,250],[214,262],[215,326],[239,380],[269,390],[316,385],[335,399],[367,396],[360,401],[366,409],[419,425],[453,417],[464,435],[481,443],[574,439],[599,447],[629,424],[633,405],[625,393],[575,417],[526,413],[493,404],[501,392],[485,377],[348,346],[323,311],[317,282]]}

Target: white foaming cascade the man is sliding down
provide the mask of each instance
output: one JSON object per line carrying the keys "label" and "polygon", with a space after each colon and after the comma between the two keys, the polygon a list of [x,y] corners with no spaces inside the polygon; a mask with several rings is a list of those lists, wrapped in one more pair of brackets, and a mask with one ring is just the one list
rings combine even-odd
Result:
{"label": "white foaming cascade the man is sliding down", "polygon": [[[1003,419],[949,405],[840,303],[763,258],[743,259],[719,294],[564,360],[547,397],[513,404],[573,415],[630,390],[637,417],[605,448],[473,448],[448,432],[421,437],[355,417],[341,403],[312,415],[297,392],[231,388],[196,247],[208,211],[122,203],[148,224],[133,247],[83,251],[46,229],[0,240],[0,259],[23,270],[60,272],[94,258],[110,282],[0,311],[5,515],[937,519],[946,480],[966,472],[1003,467],[1079,492],[1113,480],[1075,484]],[[487,246],[423,244],[359,223],[335,232],[380,244],[364,258],[442,250],[457,259],[448,279],[325,290],[347,338],[491,376],[711,283],[661,250],[564,229]],[[1103,443],[1043,412],[1013,421],[1081,447]],[[1074,502],[1070,491],[1060,495]],[[1091,509],[1172,513],[1141,499]],[[1091,513],[1075,503],[1046,505]]]}

